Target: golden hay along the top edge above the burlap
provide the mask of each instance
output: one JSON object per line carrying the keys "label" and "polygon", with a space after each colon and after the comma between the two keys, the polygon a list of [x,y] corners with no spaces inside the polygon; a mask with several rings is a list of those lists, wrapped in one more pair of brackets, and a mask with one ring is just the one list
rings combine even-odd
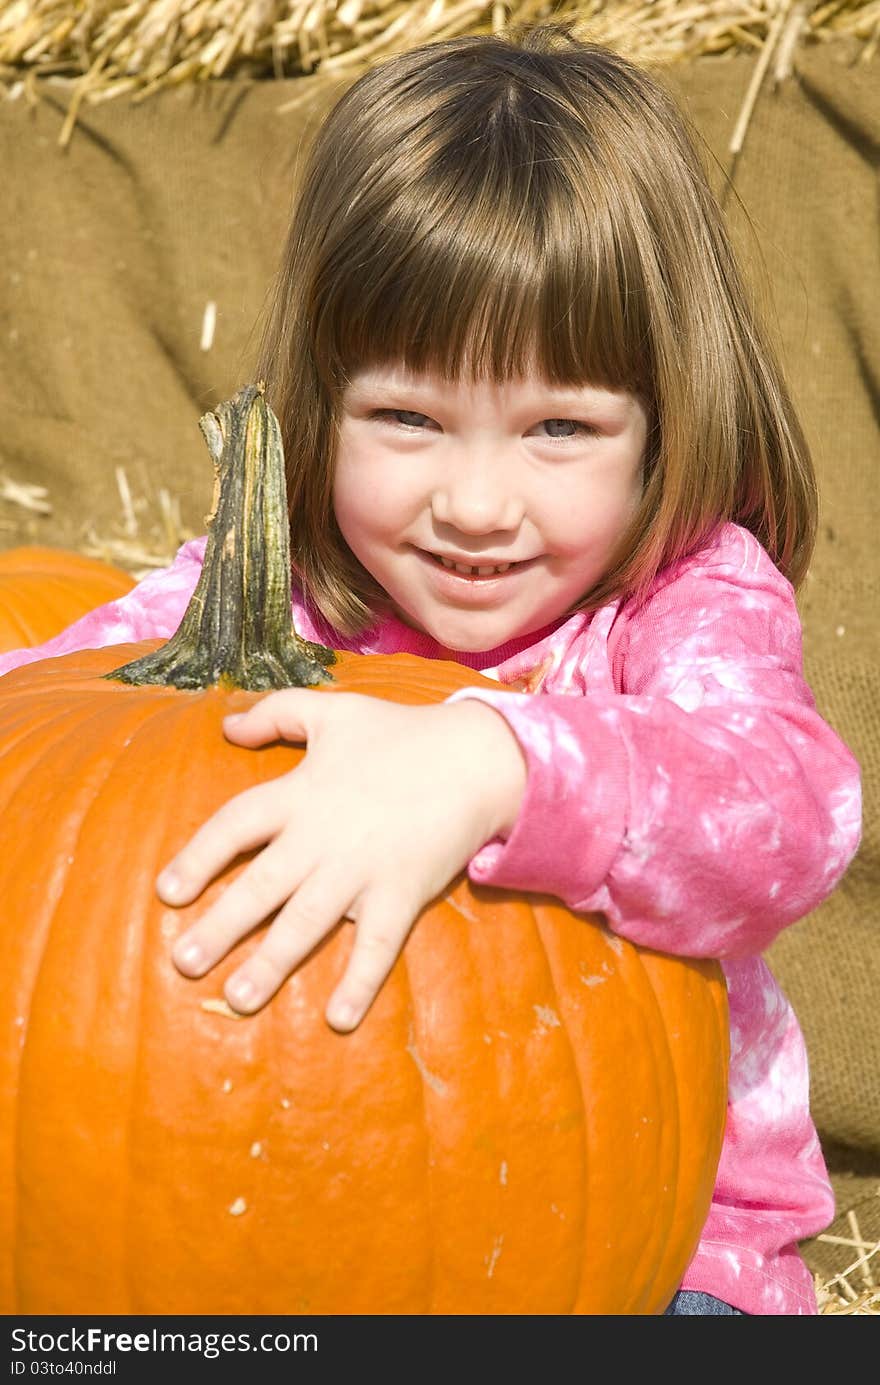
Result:
{"label": "golden hay along the top edge above the burlap", "polygon": [[35,96],[39,78],[76,79],[73,100],[218,78],[338,78],[434,39],[575,17],[575,32],[640,61],[759,48],[784,76],[798,43],[880,43],[880,0],[6,0],[0,80]]}

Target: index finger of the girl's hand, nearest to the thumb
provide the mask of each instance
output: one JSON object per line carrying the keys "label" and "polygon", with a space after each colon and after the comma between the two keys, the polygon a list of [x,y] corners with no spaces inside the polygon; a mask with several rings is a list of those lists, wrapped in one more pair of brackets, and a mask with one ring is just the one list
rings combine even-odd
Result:
{"label": "index finger of the girl's hand, nearest to the thumb", "polygon": [[165,904],[188,904],[236,856],[276,837],[285,821],[279,785],[284,781],[290,789],[288,778],[284,774],[254,784],[227,799],[157,877],[159,899]]}

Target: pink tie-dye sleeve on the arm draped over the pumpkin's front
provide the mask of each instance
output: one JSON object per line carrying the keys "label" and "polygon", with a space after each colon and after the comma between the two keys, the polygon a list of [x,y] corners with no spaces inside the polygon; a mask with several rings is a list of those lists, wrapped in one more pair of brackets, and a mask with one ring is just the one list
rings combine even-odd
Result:
{"label": "pink tie-dye sleeve on the arm draped over the pumpkin's front", "polygon": [[528,763],[517,823],[471,860],[475,882],[557,895],[698,957],[764,950],[834,888],[859,841],[858,766],[804,681],[789,583],[728,529],[618,616],[604,686],[567,650],[539,694],[455,695],[495,706]]}

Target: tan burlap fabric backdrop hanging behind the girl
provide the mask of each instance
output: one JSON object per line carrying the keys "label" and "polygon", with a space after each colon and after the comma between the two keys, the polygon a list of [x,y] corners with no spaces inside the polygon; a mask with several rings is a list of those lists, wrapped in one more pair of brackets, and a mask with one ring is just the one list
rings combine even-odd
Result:
{"label": "tan burlap fabric backdrop hanging behind the girl", "polygon": [[[847,879],[773,946],[804,1026],[813,1109],[838,1191],[833,1231],[880,1238],[880,949],[876,602],[880,237],[876,64],[802,48],[766,89],[744,151],[728,143],[754,60],[665,69],[718,165],[815,447],[822,528],[801,596],[818,702],[863,767],[865,841]],[[351,80],[351,79],[349,79]],[[64,87],[0,100],[0,472],[43,485],[50,517],[0,506],[0,544],[80,546],[119,533],[115,468],[148,528],[161,488],[204,530],[211,493],[200,414],[251,378],[249,334],[274,269],[303,138],[333,100],[279,112],[297,79],[212,83],[87,108],[57,147]],[[737,205],[737,197],[748,213]],[[751,223],[751,224],[750,224]],[[209,349],[205,307],[216,305]],[[829,1276],[845,1246],[805,1246]]]}

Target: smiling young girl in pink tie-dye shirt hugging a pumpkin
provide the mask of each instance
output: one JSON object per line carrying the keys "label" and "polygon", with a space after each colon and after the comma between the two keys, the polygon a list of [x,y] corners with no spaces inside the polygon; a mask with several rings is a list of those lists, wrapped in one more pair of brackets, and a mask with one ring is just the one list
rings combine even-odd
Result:
{"label": "smiling young girl in pink tie-dye shirt hugging a pumpkin", "polygon": [[[159,877],[191,902],[261,848],[176,964],[204,974],[277,911],[226,986],[254,1011],[352,920],[327,1008],[349,1030],[461,868],[721,958],[726,1137],[668,1312],[815,1313],[797,1242],[831,1192],[759,954],[840,879],[859,781],[801,672],[808,450],[668,97],[560,25],[374,66],[316,136],[261,377],[299,633],[499,687],[428,708],[290,690],[230,719],[240,745],[309,749]],[[202,553],[0,670],[170,636]]]}

